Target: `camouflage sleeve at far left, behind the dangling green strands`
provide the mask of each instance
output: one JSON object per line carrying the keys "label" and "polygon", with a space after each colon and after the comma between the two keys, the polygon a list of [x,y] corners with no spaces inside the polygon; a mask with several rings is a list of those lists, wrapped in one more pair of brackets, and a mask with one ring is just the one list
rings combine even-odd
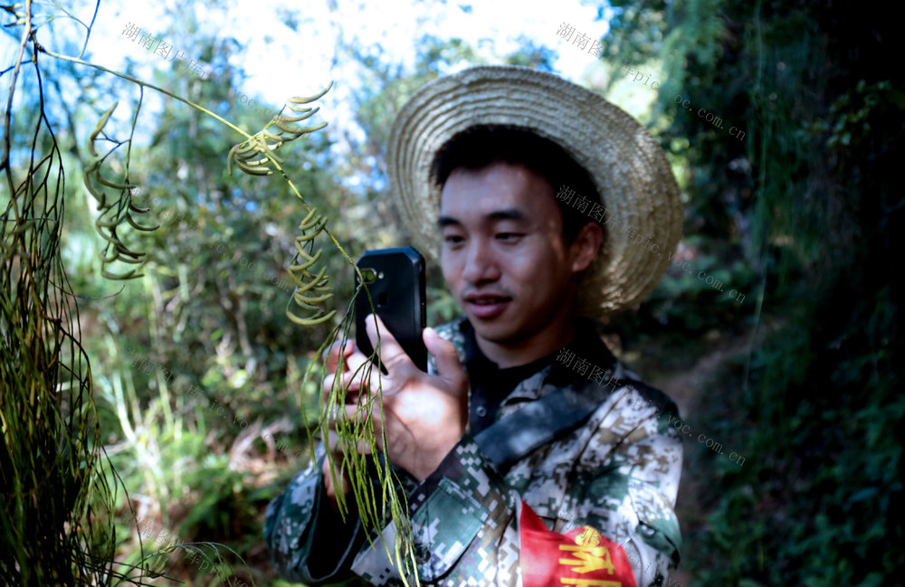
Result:
{"label": "camouflage sleeve at far left, behind the dangling green strands", "polygon": [[310,585],[352,577],[352,557],[365,540],[354,501],[350,500],[346,523],[329,507],[321,475],[323,459],[321,445],[309,468],[271,501],[264,520],[264,539],[277,572]]}

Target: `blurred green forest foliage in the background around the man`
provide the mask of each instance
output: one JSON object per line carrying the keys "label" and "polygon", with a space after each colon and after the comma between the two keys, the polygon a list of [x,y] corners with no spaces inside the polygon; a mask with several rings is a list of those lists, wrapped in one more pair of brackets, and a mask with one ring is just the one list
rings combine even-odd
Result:
{"label": "blurred green forest foliage in the background around the man", "polygon": [[[680,494],[681,569],[695,585],[889,582],[905,567],[897,429],[905,398],[896,362],[903,297],[900,280],[892,279],[905,233],[903,195],[892,183],[905,88],[888,67],[899,43],[891,20],[805,0],[607,5],[615,16],[601,43],[615,65],[583,82],[619,103],[643,83],[627,71],[663,81],[664,90],[650,90],[655,99],[643,118],[682,186],[679,252],[694,271],[671,268],[641,308],[605,328],[625,356],[642,357],[653,378],[681,373],[730,339],[747,341],[695,390],[699,402],[689,415],[696,428],[746,459],[738,467],[686,445],[684,479],[707,481],[698,494]],[[607,5],[601,3],[601,16]],[[146,81],[240,128],[261,128],[261,112],[231,99],[243,84],[243,71],[228,59],[235,40],[198,33],[191,7],[172,17],[167,34],[190,35],[218,81],[165,67]],[[14,15],[5,18],[14,23]],[[552,71],[547,47],[555,28],[550,39],[526,39],[519,52],[494,62]],[[21,33],[9,26],[5,34]],[[65,52],[80,51],[73,45]],[[328,128],[282,155],[310,204],[334,211],[329,227],[355,258],[406,242],[381,181],[395,112],[451,64],[486,58],[454,37],[424,36],[414,47],[414,68],[390,62],[379,47],[348,43],[341,51],[366,81],[353,95],[364,138]],[[164,99],[153,118],[138,121],[148,141],[130,144],[135,196],[160,228],[132,235],[130,242],[147,251],[144,275],[120,290],[119,281],[101,278],[99,211],[81,174],[91,162],[88,137],[104,112],[114,101],[134,112],[150,90],[44,54],[35,59],[26,60],[19,80],[32,99],[17,100],[14,109],[4,100],[11,142],[2,170],[21,178],[31,165],[47,174],[34,186],[43,212],[33,217],[57,220],[4,232],[3,300],[21,304],[0,308],[5,497],[15,495],[15,459],[31,459],[43,476],[29,481],[32,494],[18,494],[33,502],[5,498],[0,530],[10,548],[0,546],[0,576],[45,584],[40,573],[19,574],[18,565],[81,564],[100,584],[110,581],[100,576],[103,561],[136,564],[158,550],[150,560],[158,571],[191,584],[221,581],[204,557],[170,550],[177,541],[227,544],[248,563],[221,549],[233,580],[281,584],[267,562],[263,509],[307,465],[311,439],[300,412],[316,413],[319,393],[317,382],[301,383],[331,327],[302,329],[285,317],[293,288],[287,261],[305,208],[283,182],[228,175],[226,153],[241,137]],[[0,64],[4,83],[13,74],[9,65]],[[36,118],[39,71],[46,119]],[[135,75],[132,67],[122,73]],[[675,93],[695,108],[679,108]],[[719,115],[724,128],[698,116],[699,108]],[[329,121],[329,112],[321,119]],[[114,120],[111,133],[113,123],[119,135],[128,129]],[[743,128],[744,137],[730,136],[729,125]],[[30,162],[32,145],[52,157]],[[70,181],[54,175],[62,170]],[[343,180],[351,176],[364,181],[350,186]],[[16,218],[16,185],[5,179],[0,189],[5,224]],[[45,255],[29,279],[11,278],[22,275],[15,251],[56,246],[59,257]],[[341,308],[353,294],[353,274],[335,249],[323,254]],[[744,301],[698,279],[701,270],[746,294]],[[32,297],[23,295],[26,282],[40,288]],[[81,297],[55,293],[62,290]],[[48,306],[34,304],[38,298]],[[429,324],[455,316],[436,268],[428,298]],[[71,319],[76,305],[79,322]],[[12,328],[26,315],[31,337]],[[37,326],[45,315],[57,319],[56,329]],[[45,369],[63,346],[59,356],[73,365],[71,373],[53,373],[43,387],[19,376]],[[68,395],[49,393],[61,384]],[[42,402],[24,399],[42,389]],[[37,405],[41,410],[22,409]],[[93,493],[85,489],[89,478]],[[695,503],[682,502],[689,495]],[[90,521],[100,534],[69,533],[73,520]],[[40,533],[24,529],[43,525],[56,528],[47,535],[67,539],[47,539],[43,549],[16,546],[38,540]],[[110,540],[91,542],[102,535]],[[215,559],[215,552],[204,554]],[[53,559],[65,563],[54,566]],[[55,580],[77,584],[73,576]]]}

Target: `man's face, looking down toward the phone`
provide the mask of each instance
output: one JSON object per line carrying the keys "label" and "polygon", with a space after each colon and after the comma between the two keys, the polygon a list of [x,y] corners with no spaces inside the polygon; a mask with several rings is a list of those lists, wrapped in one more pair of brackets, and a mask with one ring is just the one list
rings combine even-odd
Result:
{"label": "man's face, looking down toward the phone", "polygon": [[455,169],[439,224],[443,277],[477,336],[506,346],[567,320],[575,255],[542,175],[506,163]]}

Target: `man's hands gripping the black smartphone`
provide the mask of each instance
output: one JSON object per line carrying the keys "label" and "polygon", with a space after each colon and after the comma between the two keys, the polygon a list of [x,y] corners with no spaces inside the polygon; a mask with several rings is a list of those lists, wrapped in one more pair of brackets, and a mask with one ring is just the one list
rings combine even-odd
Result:
{"label": "man's hands gripping the black smartphone", "polygon": [[[432,328],[424,329],[424,346],[436,359],[436,376],[420,371],[380,318],[376,317],[376,320],[380,329],[381,360],[387,374],[381,374],[376,366],[368,378],[362,371],[356,373],[358,365],[367,360],[356,351],[348,355],[349,370],[335,376],[341,378],[340,384],[348,387],[350,396],[376,393],[378,384],[382,386],[383,420],[379,406],[371,410],[377,448],[383,450],[395,465],[423,481],[462,439],[468,421],[468,376],[459,364],[455,347]],[[367,336],[376,348],[375,316],[368,316],[366,323]],[[332,383],[332,377],[325,379],[325,390],[329,390]],[[348,419],[362,417],[354,403],[342,408]],[[335,428],[333,422],[332,428]],[[383,444],[384,432],[386,446]],[[363,448],[359,447],[359,450]],[[347,487],[343,489],[348,490]]]}

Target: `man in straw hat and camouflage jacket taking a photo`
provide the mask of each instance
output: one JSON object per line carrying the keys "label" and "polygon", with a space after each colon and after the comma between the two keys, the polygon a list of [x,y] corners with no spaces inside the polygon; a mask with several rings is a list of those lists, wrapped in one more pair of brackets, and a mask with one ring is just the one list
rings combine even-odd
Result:
{"label": "man in straw hat and camouflage jacket taking a photo", "polygon": [[[655,414],[675,405],[582,318],[632,307],[666,270],[625,232],[673,248],[681,237],[661,150],[593,92],[526,68],[478,67],[414,95],[387,161],[414,241],[440,260],[464,312],[425,329],[426,374],[381,330],[376,426],[403,478],[420,581],[665,584],[681,542],[681,441]],[[335,373],[340,352],[347,369]],[[376,369],[370,381],[353,376],[365,360],[334,349],[325,387],[336,376],[350,393],[376,389]],[[343,523],[336,513],[348,480],[333,486],[326,450],[268,507],[275,563],[308,583],[357,573],[402,584],[379,535],[372,546],[354,515]],[[384,528],[390,544],[394,533]]]}

